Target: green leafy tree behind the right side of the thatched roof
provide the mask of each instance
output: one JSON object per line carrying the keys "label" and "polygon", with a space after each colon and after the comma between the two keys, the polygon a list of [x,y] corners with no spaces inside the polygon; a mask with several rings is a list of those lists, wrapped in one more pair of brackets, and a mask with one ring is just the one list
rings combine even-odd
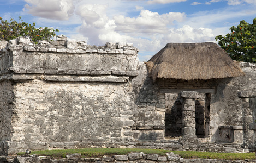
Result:
{"label": "green leafy tree behind the right side of the thatched roof", "polygon": [[245,20],[230,28],[231,33],[215,37],[219,46],[236,61],[256,62],[256,18],[249,24]]}

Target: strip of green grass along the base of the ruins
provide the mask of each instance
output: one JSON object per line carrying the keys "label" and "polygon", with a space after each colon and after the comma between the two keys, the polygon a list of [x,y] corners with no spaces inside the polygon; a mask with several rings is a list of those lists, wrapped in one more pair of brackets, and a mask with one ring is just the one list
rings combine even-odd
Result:
{"label": "strip of green grass along the base of the ruins", "polygon": [[[45,150],[32,151],[31,154],[63,158],[67,154],[81,153],[85,157],[102,157],[104,155],[126,155],[130,152],[143,152],[145,154],[158,154],[165,156],[166,153],[173,152],[184,159],[205,158],[205,159],[224,159],[224,160],[252,160],[256,159],[254,153],[213,153],[195,151],[169,151],[163,149],[120,149],[120,148],[86,148],[86,149],[65,149],[65,150]],[[25,153],[18,153],[23,155]]]}

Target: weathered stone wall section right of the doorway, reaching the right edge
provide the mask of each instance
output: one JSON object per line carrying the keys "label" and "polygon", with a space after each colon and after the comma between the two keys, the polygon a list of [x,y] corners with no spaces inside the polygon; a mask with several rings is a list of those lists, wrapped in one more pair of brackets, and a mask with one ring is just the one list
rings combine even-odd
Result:
{"label": "weathered stone wall section right of the doorway, reaching the right edge", "polygon": [[[234,136],[240,136],[237,142],[248,147],[253,134],[249,130],[249,123],[252,123],[252,110],[249,109],[249,96],[241,95],[241,92],[255,92],[256,65],[240,63],[240,67],[246,73],[245,76],[221,80],[216,87],[216,94],[211,95],[210,135],[213,142],[229,142],[233,140],[230,140],[231,136],[228,132],[235,131],[237,135]],[[220,126],[224,129],[221,132]],[[223,134],[224,137],[221,136],[223,132],[227,132]]]}

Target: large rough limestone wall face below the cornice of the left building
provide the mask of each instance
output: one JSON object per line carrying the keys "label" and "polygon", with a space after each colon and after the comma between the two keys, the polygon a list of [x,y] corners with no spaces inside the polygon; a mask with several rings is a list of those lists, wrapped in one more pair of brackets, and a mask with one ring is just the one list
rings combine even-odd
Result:
{"label": "large rough limestone wall face below the cornice of the left building", "polygon": [[121,139],[122,127],[134,123],[129,93],[122,83],[19,82],[14,86],[19,119],[11,141],[20,148],[58,149]]}

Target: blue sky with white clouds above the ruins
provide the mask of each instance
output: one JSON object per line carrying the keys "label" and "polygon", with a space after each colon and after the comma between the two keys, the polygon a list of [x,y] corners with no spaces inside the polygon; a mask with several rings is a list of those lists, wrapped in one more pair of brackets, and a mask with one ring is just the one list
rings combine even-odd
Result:
{"label": "blue sky with white clouds above the ruins", "polygon": [[251,24],[256,0],[0,0],[0,16],[90,45],[130,42],[147,61],[166,43],[215,42],[241,20]]}

